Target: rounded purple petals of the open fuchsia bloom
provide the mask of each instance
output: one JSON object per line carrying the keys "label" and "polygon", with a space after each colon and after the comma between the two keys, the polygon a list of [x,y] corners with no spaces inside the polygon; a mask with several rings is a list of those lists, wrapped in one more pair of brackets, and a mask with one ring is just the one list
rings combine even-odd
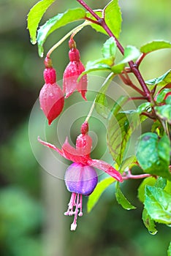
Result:
{"label": "rounded purple petals of the open fuchsia bloom", "polygon": [[98,182],[94,167],[77,162],[67,168],[64,180],[69,192],[80,195],[90,195]]}

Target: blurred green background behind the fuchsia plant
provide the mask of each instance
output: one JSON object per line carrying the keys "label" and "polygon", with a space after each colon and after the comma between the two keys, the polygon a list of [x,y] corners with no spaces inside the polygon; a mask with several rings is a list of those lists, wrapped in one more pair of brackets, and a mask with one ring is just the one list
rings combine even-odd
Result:
{"label": "blurred green background behind the fuchsia plant", "polygon": [[[64,217],[69,192],[64,181],[46,173],[31,151],[28,121],[44,81],[43,60],[37,45],[31,45],[26,29],[26,15],[37,1],[0,0],[0,254],[1,256],[161,256],[167,255],[171,238],[169,227],[157,225],[159,232],[151,236],[141,220],[142,205],[137,200],[140,181],[126,181],[123,192],[137,206],[125,211],[115,202],[113,187],[102,195],[91,214],[78,219],[76,232],[69,230],[72,217]],[[92,8],[102,8],[107,1],[86,1]],[[100,2],[100,3],[99,3]],[[120,1],[123,12],[121,43],[140,47],[152,39],[170,40],[170,0]],[[56,1],[42,19],[78,7],[76,1]],[[59,29],[45,43],[45,52],[64,36],[73,24]],[[83,29],[75,39],[84,64],[101,57],[102,43],[107,37]],[[119,58],[119,57],[118,57]],[[161,50],[147,56],[141,71],[145,80],[158,77],[170,69],[170,51]],[[68,46],[64,42],[53,53],[53,64],[62,79],[68,63]],[[98,74],[105,75],[105,74]],[[118,80],[116,80],[118,82]],[[129,89],[129,94],[132,91]],[[80,97],[80,95],[78,95]],[[80,98],[79,98],[80,100]],[[75,101],[75,96],[71,102]],[[68,103],[68,105],[70,104]],[[68,107],[66,105],[66,108]],[[74,116],[74,113],[73,113]],[[42,119],[35,118],[35,136],[41,133]],[[148,130],[148,122],[142,127]],[[50,131],[56,129],[56,122]],[[34,124],[31,123],[31,129]],[[102,136],[102,130],[91,121],[91,129]],[[105,132],[105,131],[104,131]],[[54,132],[53,132],[54,133]],[[77,122],[71,129],[73,141],[79,134]],[[31,133],[32,135],[32,133]],[[30,136],[31,136],[30,135]],[[50,140],[53,141],[53,140]],[[34,148],[41,148],[35,143]],[[95,148],[94,157],[103,154],[102,146]],[[53,166],[45,153],[42,161]],[[63,168],[63,165],[61,166]],[[64,170],[62,170],[64,171]]]}

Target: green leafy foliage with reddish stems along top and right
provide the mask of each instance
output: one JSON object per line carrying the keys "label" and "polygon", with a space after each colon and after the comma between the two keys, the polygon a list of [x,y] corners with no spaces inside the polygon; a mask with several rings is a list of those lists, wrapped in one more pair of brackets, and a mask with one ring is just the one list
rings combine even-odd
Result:
{"label": "green leafy foliage with reddish stems along top and right", "polygon": [[[77,20],[84,20],[79,26],[72,29],[66,36],[61,39],[56,45],[51,48],[47,57],[50,58],[51,53],[58,45],[71,36],[73,38],[80,29],[85,26],[91,26],[96,31],[106,34],[109,38],[102,45],[102,58],[94,61],[88,61],[86,69],[82,72],[78,81],[93,71],[107,71],[110,72],[99,93],[94,100],[93,108],[96,108],[97,113],[106,119],[107,123],[107,146],[110,151],[113,161],[115,162],[115,168],[120,171],[123,177],[123,181],[128,179],[145,178],[140,184],[138,189],[138,197],[143,203],[144,208],[142,210],[142,220],[145,227],[152,234],[157,232],[155,222],[162,223],[170,226],[171,220],[171,194],[170,194],[170,70],[164,73],[164,75],[158,78],[151,78],[145,81],[142,78],[140,72],[140,65],[145,59],[145,56],[149,55],[153,51],[171,48],[171,43],[167,40],[153,40],[140,46],[137,49],[134,45],[127,45],[123,48],[119,41],[119,35],[121,32],[121,10],[117,0],[110,1],[106,7],[102,10],[92,10],[88,7],[84,1],[77,0],[83,7],[66,10],[64,13],[58,13],[53,18],[47,20],[38,31],[37,26],[39,20],[41,20],[47,7],[52,4],[53,1],[39,1],[37,5],[31,9],[28,14],[28,30],[31,34],[32,42],[36,42],[35,34],[37,31],[37,44],[39,50],[39,56],[43,56],[43,45],[53,31],[60,29],[66,24],[75,22]],[[41,12],[37,17],[37,6],[43,5]],[[87,12],[86,12],[87,11]],[[35,22],[29,22],[33,20]],[[122,54],[122,58],[118,63],[115,63],[115,56],[118,50]],[[140,85],[132,82],[129,74],[132,73]],[[134,91],[140,94],[140,97],[134,97],[136,99],[142,99],[144,102],[140,104],[136,110],[129,109],[123,110],[123,105],[126,105],[131,97],[122,96],[111,106],[111,103],[107,99],[106,93],[110,86],[110,81],[118,75],[126,86],[130,86]],[[156,93],[156,90],[158,92]],[[78,90],[79,91],[79,90]],[[89,114],[86,121],[90,118]],[[151,119],[153,125],[151,131],[143,133],[139,140],[137,140],[137,146],[135,148],[134,156],[126,156],[127,148],[130,143],[130,138],[133,132],[140,126],[140,124],[146,119]],[[83,135],[83,134],[82,134]],[[52,147],[52,146],[50,146]],[[131,160],[130,160],[131,159]],[[142,174],[132,174],[132,167],[137,166],[142,170]],[[112,178],[106,178],[100,181],[94,189],[94,192],[88,199],[88,211],[94,208],[98,202],[99,197],[102,195],[110,184],[115,182]],[[131,203],[121,192],[118,182],[115,183],[115,197],[121,206],[127,210],[134,209]],[[168,249],[170,253],[170,248]]]}

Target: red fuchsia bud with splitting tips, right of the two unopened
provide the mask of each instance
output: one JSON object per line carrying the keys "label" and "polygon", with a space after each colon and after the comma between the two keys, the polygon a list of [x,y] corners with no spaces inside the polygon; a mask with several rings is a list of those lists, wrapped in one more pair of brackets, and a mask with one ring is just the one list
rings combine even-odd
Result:
{"label": "red fuchsia bud with splitting tips, right of the two unopened", "polygon": [[64,71],[63,78],[63,91],[68,98],[74,91],[79,91],[83,99],[86,100],[86,91],[87,91],[87,75],[83,75],[79,82],[77,78],[85,70],[82,62],[80,61],[80,53],[76,48],[75,40],[69,40],[69,64],[67,65]]}

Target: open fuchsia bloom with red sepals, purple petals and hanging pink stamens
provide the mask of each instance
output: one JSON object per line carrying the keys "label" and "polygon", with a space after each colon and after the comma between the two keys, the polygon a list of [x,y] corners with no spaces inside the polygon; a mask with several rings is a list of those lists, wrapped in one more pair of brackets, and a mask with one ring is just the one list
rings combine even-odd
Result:
{"label": "open fuchsia bloom with red sepals, purple petals and hanging pink stamens", "polygon": [[[75,215],[74,222],[71,225],[71,230],[75,230],[77,227],[77,216],[82,216],[82,195],[90,195],[97,184],[98,178],[96,170],[103,170],[117,181],[122,181],[122,176],[111,165],[102,160],[91,159],[91,146],[92,140],[88,133],[88,122],[82,124],[81,134],[77,137],[76,148],[70,146],[66,138],[61,149],[56,148],[50,143],[43,140],[39,140],[40,143],[53,148],[62,157],[72,161],[65,174],[65,184],[69,192],[72,192],[71,199],[69,201],[68,210],[65,215]],[[79,212],[80,211],[80,212]]]}

